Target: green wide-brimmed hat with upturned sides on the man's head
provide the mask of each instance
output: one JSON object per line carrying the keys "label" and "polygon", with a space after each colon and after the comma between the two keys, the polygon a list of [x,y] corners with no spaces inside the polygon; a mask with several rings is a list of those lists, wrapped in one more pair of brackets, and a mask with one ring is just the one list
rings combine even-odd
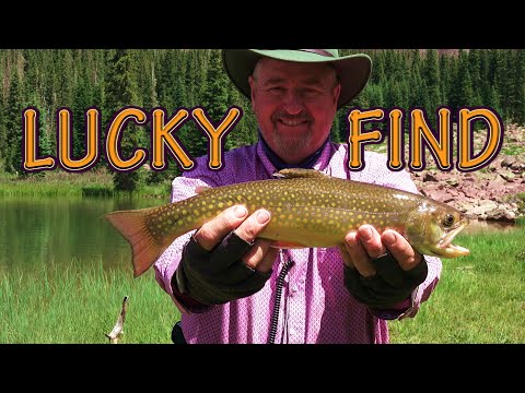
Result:
{"label": "green wide-brimmed hat with upturned sides on the man's head", "polygon": [[337,109],[355,98],[372,71],[372,59],[364,53],[339,56],[338,49],[223,49],[222,61],[228,76],[250,99],[248,76],[260,58],[312,63],[331,63],[341,84]]}

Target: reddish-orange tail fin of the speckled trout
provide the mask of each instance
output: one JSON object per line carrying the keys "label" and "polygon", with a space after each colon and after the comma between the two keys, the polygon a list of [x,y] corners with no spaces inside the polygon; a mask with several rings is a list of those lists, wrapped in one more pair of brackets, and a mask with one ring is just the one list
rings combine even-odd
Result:
{"label": "reddish-orange tail fin of the speckled trout", "polygon": [[145,211],[148,209],[113,212],[105,215],[131,246],[135,277],[150,269],[166,249],[166,246],[159,242],[148,228]]}

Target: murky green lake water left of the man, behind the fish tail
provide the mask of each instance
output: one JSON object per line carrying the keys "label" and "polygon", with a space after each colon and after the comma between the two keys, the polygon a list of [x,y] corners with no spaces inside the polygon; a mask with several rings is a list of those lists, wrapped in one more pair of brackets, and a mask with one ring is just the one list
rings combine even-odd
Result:
{"label": "murky green lake water left of the man, behind the fish tail", "polygon": [[73,259],[131,269],[128,242],[104,215],[163,203],[154,199],[0,199],[0,271],[69,264]]}

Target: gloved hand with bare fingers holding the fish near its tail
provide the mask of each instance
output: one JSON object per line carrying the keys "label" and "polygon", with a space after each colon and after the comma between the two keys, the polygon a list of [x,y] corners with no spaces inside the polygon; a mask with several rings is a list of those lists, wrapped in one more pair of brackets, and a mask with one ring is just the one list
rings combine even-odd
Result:
{"label": "gloved hand with bare fingers holding the fish near its tail", "polygon": [[278,252],[272,241],[257,239],[269,222],[267,211],[248,216],[245,206],[236,205],[202,225],[183,250],[176,271],[179,290],[206,305],[260,290]]}

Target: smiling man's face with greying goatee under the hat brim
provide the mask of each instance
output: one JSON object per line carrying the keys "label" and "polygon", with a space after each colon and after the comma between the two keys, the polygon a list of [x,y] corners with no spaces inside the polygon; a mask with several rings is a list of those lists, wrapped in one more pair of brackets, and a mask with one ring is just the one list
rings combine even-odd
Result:
{"label": "smiling man's face with greying goatee under the hat brim", "polygon": [[331,66],[264,58],[249,85],[260,132],[283,162],[299,164],[323,145],[341,91]]}

